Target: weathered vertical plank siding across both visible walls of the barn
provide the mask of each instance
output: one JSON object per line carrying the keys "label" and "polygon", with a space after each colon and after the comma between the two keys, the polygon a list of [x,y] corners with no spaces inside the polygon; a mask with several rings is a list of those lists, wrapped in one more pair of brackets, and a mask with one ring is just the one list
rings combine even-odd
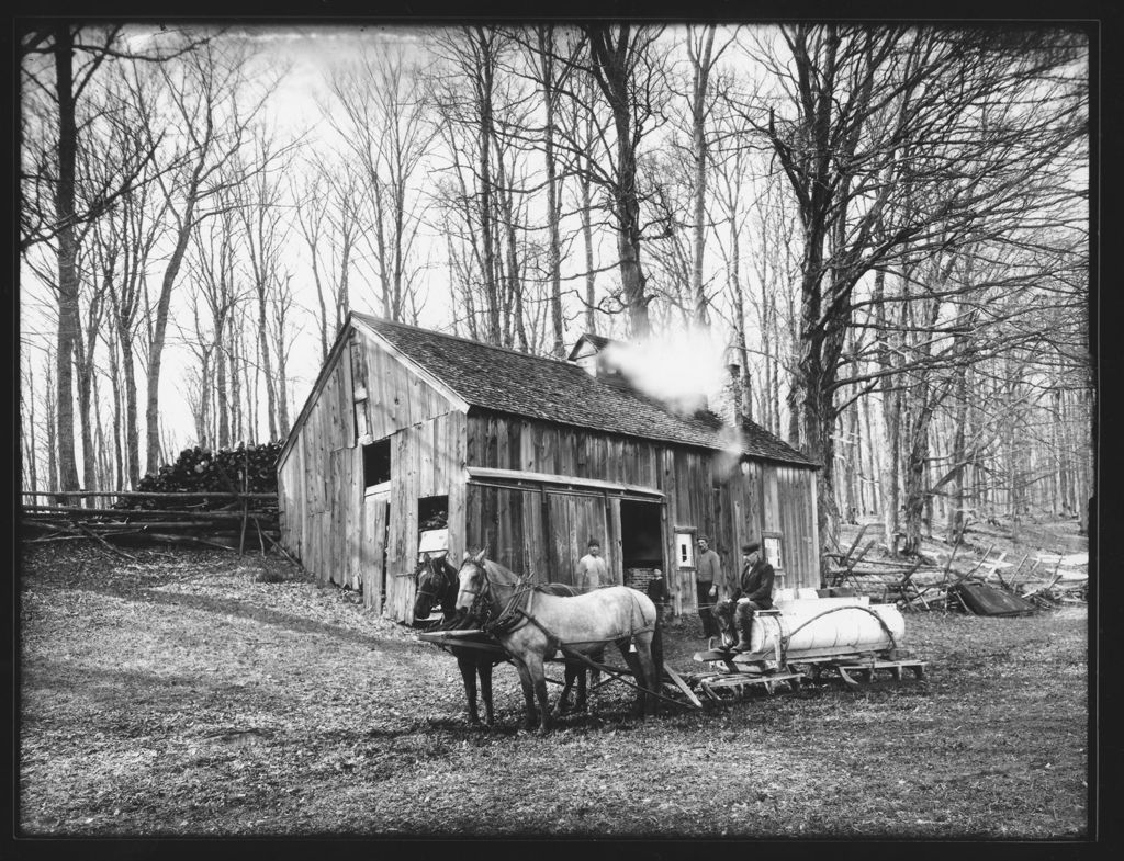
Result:
{"label": "weathered vertical plank siding across both visible walls of the barn", "polygon": [[[706,533],[729,570],[740,546],[782,537],[785,586],[818,586],[815,474],[487,411],[463,404],[353,330],[337,341],[279,466],[282,546],[320,583],[362,587],[364,604],[406,620],[418,500],[448,496],[451,558],[489,555],[540,581],[573,581],[591,537],[623,577],[619,491],[468,482],[465,466],[659,491],[664,573],[676,613],[695,610],[695,571],[674,559],[678,529]],[[363,434],[391,440],[389,486],[365,494]]]}

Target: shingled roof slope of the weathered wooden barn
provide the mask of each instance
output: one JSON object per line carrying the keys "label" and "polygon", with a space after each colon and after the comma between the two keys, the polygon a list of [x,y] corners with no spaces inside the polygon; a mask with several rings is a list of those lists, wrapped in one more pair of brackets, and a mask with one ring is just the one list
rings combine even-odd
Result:
{"label": "shingled roof slope of the weathered wooden barn", "polygon": [[[568,361],[393,323],[357,311],[351,313],[471,406],[642,439],[727,448],[728,431],[711,412],[681,415],[628,386],[590,376]],[[742,451],[756,458],[816,466],[752,422],[745,422],[742,429]]]}

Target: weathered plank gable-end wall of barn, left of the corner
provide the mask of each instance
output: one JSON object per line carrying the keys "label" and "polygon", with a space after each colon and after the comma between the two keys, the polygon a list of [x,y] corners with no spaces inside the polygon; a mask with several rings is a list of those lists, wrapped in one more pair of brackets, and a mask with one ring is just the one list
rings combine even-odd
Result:
{"label": "weathered plank gable-end wall of barn, left of the corner", "polygon": [[[278,469],[282,546],[317,581],[362,587],[365,606],[405,620],[414,580],[393,575],[414,570],[419,497],[450,497],[451,543],[463,549],[463,413],[353,329],[333,348],[294,433]],[[364,433],[391,438],[389,491],[365,495]]]}

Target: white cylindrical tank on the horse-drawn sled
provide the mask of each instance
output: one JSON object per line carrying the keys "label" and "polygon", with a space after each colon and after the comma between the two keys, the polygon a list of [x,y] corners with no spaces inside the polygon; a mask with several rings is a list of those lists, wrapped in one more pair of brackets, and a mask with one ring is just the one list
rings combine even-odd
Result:
{"label": "white cylindrical tank on the horse-drawn sled", "polygon": [[871,604],[869,597],[789,598],[776,608],[779,613],[754,616],[750,645],[789,661],[885,652],[900,648],[906,632],[897,606]]}

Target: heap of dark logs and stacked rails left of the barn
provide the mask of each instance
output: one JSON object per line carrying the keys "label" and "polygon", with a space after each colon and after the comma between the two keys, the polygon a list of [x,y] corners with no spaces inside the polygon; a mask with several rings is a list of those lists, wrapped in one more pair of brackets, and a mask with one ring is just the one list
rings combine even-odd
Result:
{"label": "heap of dark logs and stacked rails left of the barn", "polygon": [[[279,451],[280,443],[217,451],[196,447],[155,476],[145,476],[137,491],[25,493],[27,540],[94,539],[128,556],[120,544],[165,542],[243,552],[248,539],[264,553],[280,539]],[[54,504],[36,504],[43,496]]]}

